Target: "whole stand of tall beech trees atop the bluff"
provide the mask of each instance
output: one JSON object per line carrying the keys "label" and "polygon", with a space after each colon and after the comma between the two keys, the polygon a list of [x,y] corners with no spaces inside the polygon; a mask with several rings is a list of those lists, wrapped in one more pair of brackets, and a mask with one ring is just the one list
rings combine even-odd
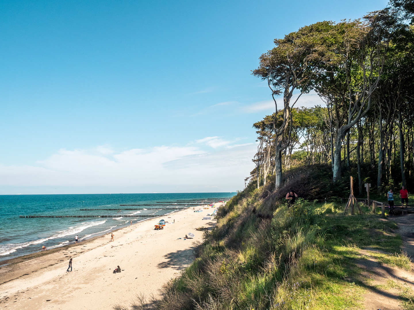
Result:
{"label": "whole stand of tall beech trees atop the bluff", "polygon": [[[378,193],[412,178],[414,26],[408,20],[414,2],[390,3],[362,20],[303,27],[274,40],[276,47],[260,57],[253,74],[267,82],[276,113],[255,124],[258,186],[273,167],[276,188],[281,186],[283,156],[284,169],[330,162],[334,182],[346,160],[348,173],[357,166],[360,193],[373,178]],[[294,108],[311,89],[327,107]],[[265,123],[272,138],[261,129]]]}

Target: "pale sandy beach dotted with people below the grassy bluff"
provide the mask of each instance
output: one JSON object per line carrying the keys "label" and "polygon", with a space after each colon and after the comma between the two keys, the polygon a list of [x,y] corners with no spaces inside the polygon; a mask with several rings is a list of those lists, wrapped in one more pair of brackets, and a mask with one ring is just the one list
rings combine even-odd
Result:
{"label": "pale sandy beach dotted with people below the grassy bluff", "polygon": [[[0,307],[112,309],[130,305],[136,294],[159,296],[161,286],[193,261],[193,242],[203,234],[195,229],[214,226],[214,219],[202,219],[212,210],[182,210],[114,231],[113,242],[109,233],[0,267]],[[160,219],[170,224],[154,230]],[[184,240],[188,233],[195,237]],[[66,272],[70,258],[73,271]],[[117,265],[122,272],[114,274]]]}

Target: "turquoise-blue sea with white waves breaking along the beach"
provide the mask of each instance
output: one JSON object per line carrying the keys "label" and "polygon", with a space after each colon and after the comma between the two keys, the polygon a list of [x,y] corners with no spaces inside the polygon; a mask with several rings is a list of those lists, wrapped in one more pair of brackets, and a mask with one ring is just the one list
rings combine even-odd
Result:
{"label": "turquoise-blue sea with white waves breaking along the beach", "polygon": [[[121,218],[19,218],[19,215],[118,215],[116,211],[79,209],[120,208],[124,204],[156,204],[176,200],[232,197],[236,193],[152,193],[79,195],[0,195],[0,261],[41,250],[56,248],[99,236],[113,229],[137,223],[142,217]],[[178,202],[176,202],[178,203]],[[129,206],[121,208],[155,208]],[[169,206],[175,208],[173,203]],[[178,206],[184,207],[184,206]],[[123,210],[122,215],[164,215],[172,210]]]}

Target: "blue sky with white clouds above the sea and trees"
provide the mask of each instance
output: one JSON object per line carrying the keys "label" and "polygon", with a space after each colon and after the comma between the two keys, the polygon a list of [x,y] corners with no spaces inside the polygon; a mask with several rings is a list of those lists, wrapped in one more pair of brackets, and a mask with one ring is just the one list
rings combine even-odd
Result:
{"label": "blue sky with white clouds above the sea and trees", "polygon": [[273,110],[258,57],[386,4],[0,1],[0,194],[241,189]]}

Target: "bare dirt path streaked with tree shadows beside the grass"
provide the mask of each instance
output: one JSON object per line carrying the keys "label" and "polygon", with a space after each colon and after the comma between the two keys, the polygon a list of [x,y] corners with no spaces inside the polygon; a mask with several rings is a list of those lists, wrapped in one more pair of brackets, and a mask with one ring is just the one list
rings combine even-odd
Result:
{"label": "bare dirt path streaked with tree shadows beside the grass", "polygon": [[[402,250],[414,258],[414,214],[395,216],[385,220],[393,220],[398,224],[397,233],[402,236]],[[414,292],[414,265],[410,270],[391,267],[378,262],[378,254],[384,253],[375,249],[360,250],[361,258],[355,261],[361,269],[359,279],[368,292],[365,298],[366,310],[395,310],[404,309],[404,296]]]}

